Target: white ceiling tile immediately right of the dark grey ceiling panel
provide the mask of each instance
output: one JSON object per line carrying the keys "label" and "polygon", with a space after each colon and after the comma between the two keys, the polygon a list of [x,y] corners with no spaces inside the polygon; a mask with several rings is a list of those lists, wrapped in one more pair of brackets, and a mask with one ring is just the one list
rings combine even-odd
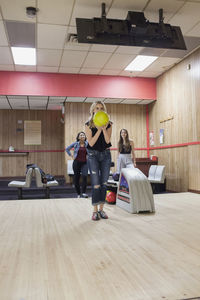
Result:
{"label": "white ceiling tile immediately right of the dark grey ceiling panel", "polygon": [[38,24],[38,48],[62,49],[67,35],[67,26]]}

